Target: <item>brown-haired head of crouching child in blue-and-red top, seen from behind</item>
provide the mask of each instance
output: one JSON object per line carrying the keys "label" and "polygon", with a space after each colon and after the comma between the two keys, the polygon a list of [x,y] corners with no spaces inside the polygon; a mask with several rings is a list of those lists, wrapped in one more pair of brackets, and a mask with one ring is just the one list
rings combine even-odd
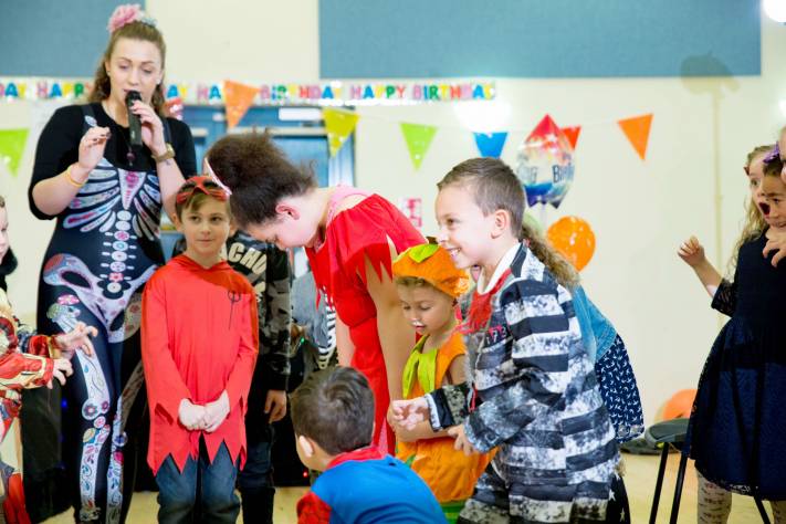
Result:
{"label": "brown-haired head of crouching child in blue-and-red top, seen from behind", "polygon": [[[350,367],[316,371],[292,394],[292,428],[303,463],[322,470],[321,459],[365,448],[374,433],[374,394]],[[324,457],[322,457],[324,454]]]}

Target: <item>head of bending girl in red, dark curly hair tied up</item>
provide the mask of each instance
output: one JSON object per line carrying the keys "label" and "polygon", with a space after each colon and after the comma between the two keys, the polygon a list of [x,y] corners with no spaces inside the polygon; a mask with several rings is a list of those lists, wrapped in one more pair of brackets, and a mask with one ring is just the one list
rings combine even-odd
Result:
{"label": "head of bending girl in red, dark curly hair tied up", "polygon": [[232,191],[241,229],[281,249],[312,244],[322,212],[302,197],[316,188],[316,179],[294,166],[269,134],[228,135],[210,148],[208,161]]}

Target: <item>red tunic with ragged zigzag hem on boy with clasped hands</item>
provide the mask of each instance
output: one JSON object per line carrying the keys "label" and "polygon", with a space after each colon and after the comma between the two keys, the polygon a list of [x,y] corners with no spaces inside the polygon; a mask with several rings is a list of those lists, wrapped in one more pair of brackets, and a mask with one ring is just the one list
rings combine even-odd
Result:
{"label": "red tunic with ragged zigzag hem on boy with clasped hands", "polygon": [[[154,474],[168,454],[182,471],[199,457],[203,438],[212,462],[221,442],[245,462],[244,416],[258,352],[256,297],[227,262],[205,269],[179,255],[145,285],[142,361],[150,404],[147,463]],[[180,401],[197,405],[229,396],[229,415],[212,433],[186,429]]]}

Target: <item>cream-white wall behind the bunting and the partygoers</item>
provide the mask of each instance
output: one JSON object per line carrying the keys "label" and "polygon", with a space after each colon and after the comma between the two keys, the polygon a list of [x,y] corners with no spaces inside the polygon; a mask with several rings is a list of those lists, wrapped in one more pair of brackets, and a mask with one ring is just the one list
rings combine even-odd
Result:
{"label": "cream-white wall behind the bunting and the partygoers", "polygon": [[[147,4],[167,38],[170,80],[317,80],[316,0],[220,4],[148,0]],[[515,161],[517,144],[545,113],[562,126],[585,126],[576,180],[560,209],[549,208],[546,218],[577,214],[595,230],[597,250],[583,277],[593,300],[628,344],[648,422],[675,390],[695,387],[717,333],[720,321],[709,310],[705,292],[674,253],[684,238],[695,233],[712,260],[725,266],[742,219],[745,155],[759,143],[774,142],[783,124],[777,103],[786,97],[786,70],[779,62],[784,48],[786,28],[765,19],[761,77],[497,81],[499,98],[512,108],[504,128],[516,129],[503,159]],[[2,127],[23,124],[29,106],[0,103]],[[654,119],[647,160],[641,161],[616,120],[650,112]],[[432,232],[434,184],[454,164],[478,154],[453,104],[363,107],[359,114],[358,185],[394,202],[422,197],[423,229]],[[418,171],[398,128],[401,120],[440,126]],[[32,145],[28,148],[20,176],[9,180],[3,175],[0,190],[11,202],[14,249],[22,261],[11,281],[11,296],[30,317],[50,224],[34,220],[27,210]],[[720,206],[714,196],[716,176],[723,197]],[[715,260],[719,212],[722,256]]]}

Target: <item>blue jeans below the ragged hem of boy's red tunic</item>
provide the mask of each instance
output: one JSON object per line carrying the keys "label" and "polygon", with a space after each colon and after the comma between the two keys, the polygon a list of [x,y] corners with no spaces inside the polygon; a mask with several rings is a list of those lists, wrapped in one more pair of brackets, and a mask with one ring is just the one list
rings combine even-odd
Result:
{"label": "blue jeans below the ragged hem of boy's red tunic", "polygon": [[200,441],[199,459],[189,457],[182,472],[171,455],[167,457],[156,474],[158,522],[237,522],[240,513],[240,500],[234,494],[237,476],[237,464],[223,443],[210,463],[205,441]]}

